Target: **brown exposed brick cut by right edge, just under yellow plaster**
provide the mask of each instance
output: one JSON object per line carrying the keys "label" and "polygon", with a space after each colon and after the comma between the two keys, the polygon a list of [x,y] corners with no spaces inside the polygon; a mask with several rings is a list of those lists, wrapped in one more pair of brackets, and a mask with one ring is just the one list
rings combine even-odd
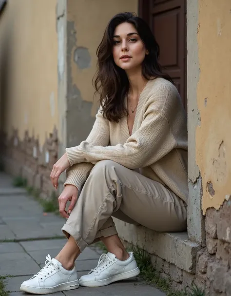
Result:
{"label": "brown exposed brick cut by right edge, just under yellow plaster", "polygon": [[217,237],[231,243],[231,198],[229,201],[225,201],[220,209]]}

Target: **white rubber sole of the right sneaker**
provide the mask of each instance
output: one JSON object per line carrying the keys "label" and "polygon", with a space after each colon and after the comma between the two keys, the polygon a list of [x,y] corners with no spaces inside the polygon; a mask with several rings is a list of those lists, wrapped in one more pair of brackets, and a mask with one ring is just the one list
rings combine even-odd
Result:
{"label": "white rubber sole of the right sneaker", "polygon": [[140,270],[137,267],[134,270],[131,270],[116,276],[112,276],[106,279],[95,280],[95,281],[85,281],[80,278],[78,282],[79,282],[79,285],[83,287],[102,287],[102,286],[107,286],[111,283],[114,283],[115,281],[118,281],[118,280],[123,280],[123,279],[128,279],[134,276],[138,276],[139,273],[140,273]]}

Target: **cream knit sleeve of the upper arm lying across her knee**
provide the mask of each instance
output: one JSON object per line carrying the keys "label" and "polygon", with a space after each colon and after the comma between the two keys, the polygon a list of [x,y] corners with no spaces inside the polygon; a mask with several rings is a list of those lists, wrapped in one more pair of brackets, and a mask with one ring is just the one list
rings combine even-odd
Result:
{"label": "cream knit sleeve of the upper arm lying across her knee", "polygon": [[83,141],[77,147],[66,148],[66,153],[71,164],[109,159],[135,169],[153,164],[175,147],[169,121],[155,109],[151,98],[141,126],[123,145],[103,147]]}

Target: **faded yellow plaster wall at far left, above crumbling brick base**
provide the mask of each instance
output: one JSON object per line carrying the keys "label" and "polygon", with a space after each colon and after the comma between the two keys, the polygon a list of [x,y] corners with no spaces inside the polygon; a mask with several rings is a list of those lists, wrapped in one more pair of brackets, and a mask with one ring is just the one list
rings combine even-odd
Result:
{"label": "faded yellow plaster wall at far left, above crumbling brick base", "polygon": [[18,128],[21,139],[29,130],[43,145],[58,125],[56,0],[8,0],[0,27],[10,64],[4,130]]}

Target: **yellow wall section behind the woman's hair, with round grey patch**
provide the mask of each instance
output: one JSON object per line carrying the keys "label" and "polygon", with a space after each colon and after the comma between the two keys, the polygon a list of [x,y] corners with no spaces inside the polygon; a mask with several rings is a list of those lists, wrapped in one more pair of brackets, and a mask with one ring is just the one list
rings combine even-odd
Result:
{"label": "yellow wall section behind the woman's hair, with round grey patch", "polygon": [[[68,0],[67,18],[68,21],[75,22],[77,46],[88,48],[91,56],[91,66],[86,69],[79,69],[74,59],[71,59],[72,79],[77,82],[83,100],[93,101],[95,90],[92,86],[92,79],[96,72],[96,49],[108,21],[119,12],[137,13],[137,10],[137,0]],[[95,111],[93,108],[92,115],[95,115]]]}

